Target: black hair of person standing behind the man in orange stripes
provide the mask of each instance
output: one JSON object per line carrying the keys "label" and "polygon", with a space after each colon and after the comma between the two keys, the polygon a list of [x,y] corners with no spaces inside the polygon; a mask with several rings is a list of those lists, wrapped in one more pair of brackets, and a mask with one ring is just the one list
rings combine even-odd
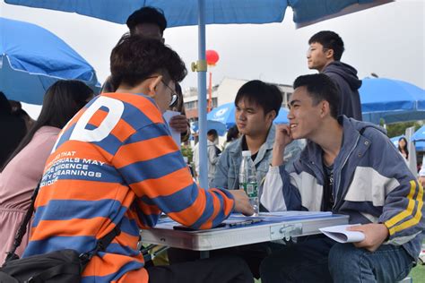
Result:
{"label": "black hair of person standing behind the man in orange stripes", "polygon": [[153,23],[158,25],[161,34],[167,29],[167,20],[165,19],[164,12],[151,6],[142,7],[134,11],[126,21],[127,27],[131,33],[133,33],[135,26],[141,23]]}

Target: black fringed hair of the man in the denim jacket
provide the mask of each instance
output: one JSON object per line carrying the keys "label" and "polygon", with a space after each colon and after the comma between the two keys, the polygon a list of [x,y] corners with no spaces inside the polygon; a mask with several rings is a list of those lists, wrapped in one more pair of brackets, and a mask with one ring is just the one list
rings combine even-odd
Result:
{"label": "black fringed hair of the man in the denim jacket", "polygon": [[281,90],[275,85],[264,81],[248,81],[241,86],[236,94],[235,106],[238,106],[241,99],[256,103],[264,109],[265,114],[274,110],[277,116],[282,107]]}

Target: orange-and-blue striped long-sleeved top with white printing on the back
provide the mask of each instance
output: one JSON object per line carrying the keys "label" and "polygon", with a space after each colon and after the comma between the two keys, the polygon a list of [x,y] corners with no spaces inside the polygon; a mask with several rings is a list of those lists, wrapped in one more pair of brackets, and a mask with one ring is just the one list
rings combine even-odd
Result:
{"label": "orange-and-blue striped long-sleeved top with white printing on the back", "polygon": [[234,207],[225,190],[198,188],[152,99],[108,93],[92,99],[65,125],[48,158],[24,257],[71,248],[91,251],[82,282],[148,282],[137,250],[139,230],[161,211],[195,228],[214,227]]}

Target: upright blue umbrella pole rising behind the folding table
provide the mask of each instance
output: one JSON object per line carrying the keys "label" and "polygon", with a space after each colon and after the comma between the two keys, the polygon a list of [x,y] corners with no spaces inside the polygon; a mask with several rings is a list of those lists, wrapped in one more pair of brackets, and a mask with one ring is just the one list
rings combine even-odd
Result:
{"label": "upright blue umbrella pole rising behind the folding table", "polygon": [[199,183],[208,188],[206,151],[206,60],[205,60],[205,0],[198,0],[198,120],[199,120]]}

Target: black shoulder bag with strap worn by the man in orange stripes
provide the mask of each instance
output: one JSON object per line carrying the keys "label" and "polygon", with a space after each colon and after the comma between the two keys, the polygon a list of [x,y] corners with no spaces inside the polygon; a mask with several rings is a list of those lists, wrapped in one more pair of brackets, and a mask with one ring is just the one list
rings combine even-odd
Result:
{"label": "black shoulder bag with strap worn by the man in orange stripes", "polygon": [[32,194],[30,208],[16,233],[12,251],[7,253],[6,260],[0,268],[0,283],[80,282],[82,271],[91,257],[100,251],[104,251],[121,231],[115,227],[106,236],[100,238],[96,247],[87,253],[80,254],[74,250],[66,249],[19,259],[15,251],[26,233],[27,224],[34,211],[37,193],[39,193],[39,185]]}

